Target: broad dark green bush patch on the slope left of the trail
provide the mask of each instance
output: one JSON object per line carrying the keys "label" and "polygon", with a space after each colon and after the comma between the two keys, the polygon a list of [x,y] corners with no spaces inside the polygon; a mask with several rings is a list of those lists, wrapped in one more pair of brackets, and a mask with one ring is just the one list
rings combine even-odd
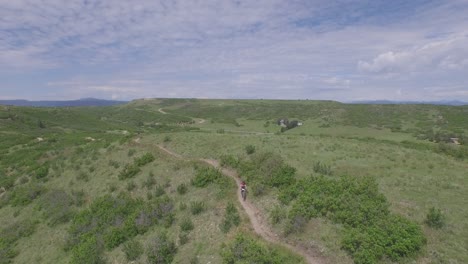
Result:
{"label": "broad dark green bush patch on the slope left of the trail", "polygon": [[126,194],[100,197],[73,218],[67,249],[72,250],[72,259],[77,260],[74,263],[94,263],[79,261],[86,257],[87,251],[98,261],[103,248],[113,249],[155,224],[171,224],[173,207],[167,196],[146,203]]}

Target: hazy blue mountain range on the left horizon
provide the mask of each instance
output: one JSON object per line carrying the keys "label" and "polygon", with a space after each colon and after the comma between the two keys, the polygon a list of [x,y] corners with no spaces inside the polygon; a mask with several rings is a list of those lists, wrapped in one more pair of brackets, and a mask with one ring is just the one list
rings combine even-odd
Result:
{"label": "hazy blue mountain range on the left horizon", "polygon": [[109,106],[125,104],[127,101],[113,101],[96,98],[82,98],[69,101],[28,101],[28,100],[0,100],[0,105],[35,106],[35,107],[68,107],[68,106]]}

